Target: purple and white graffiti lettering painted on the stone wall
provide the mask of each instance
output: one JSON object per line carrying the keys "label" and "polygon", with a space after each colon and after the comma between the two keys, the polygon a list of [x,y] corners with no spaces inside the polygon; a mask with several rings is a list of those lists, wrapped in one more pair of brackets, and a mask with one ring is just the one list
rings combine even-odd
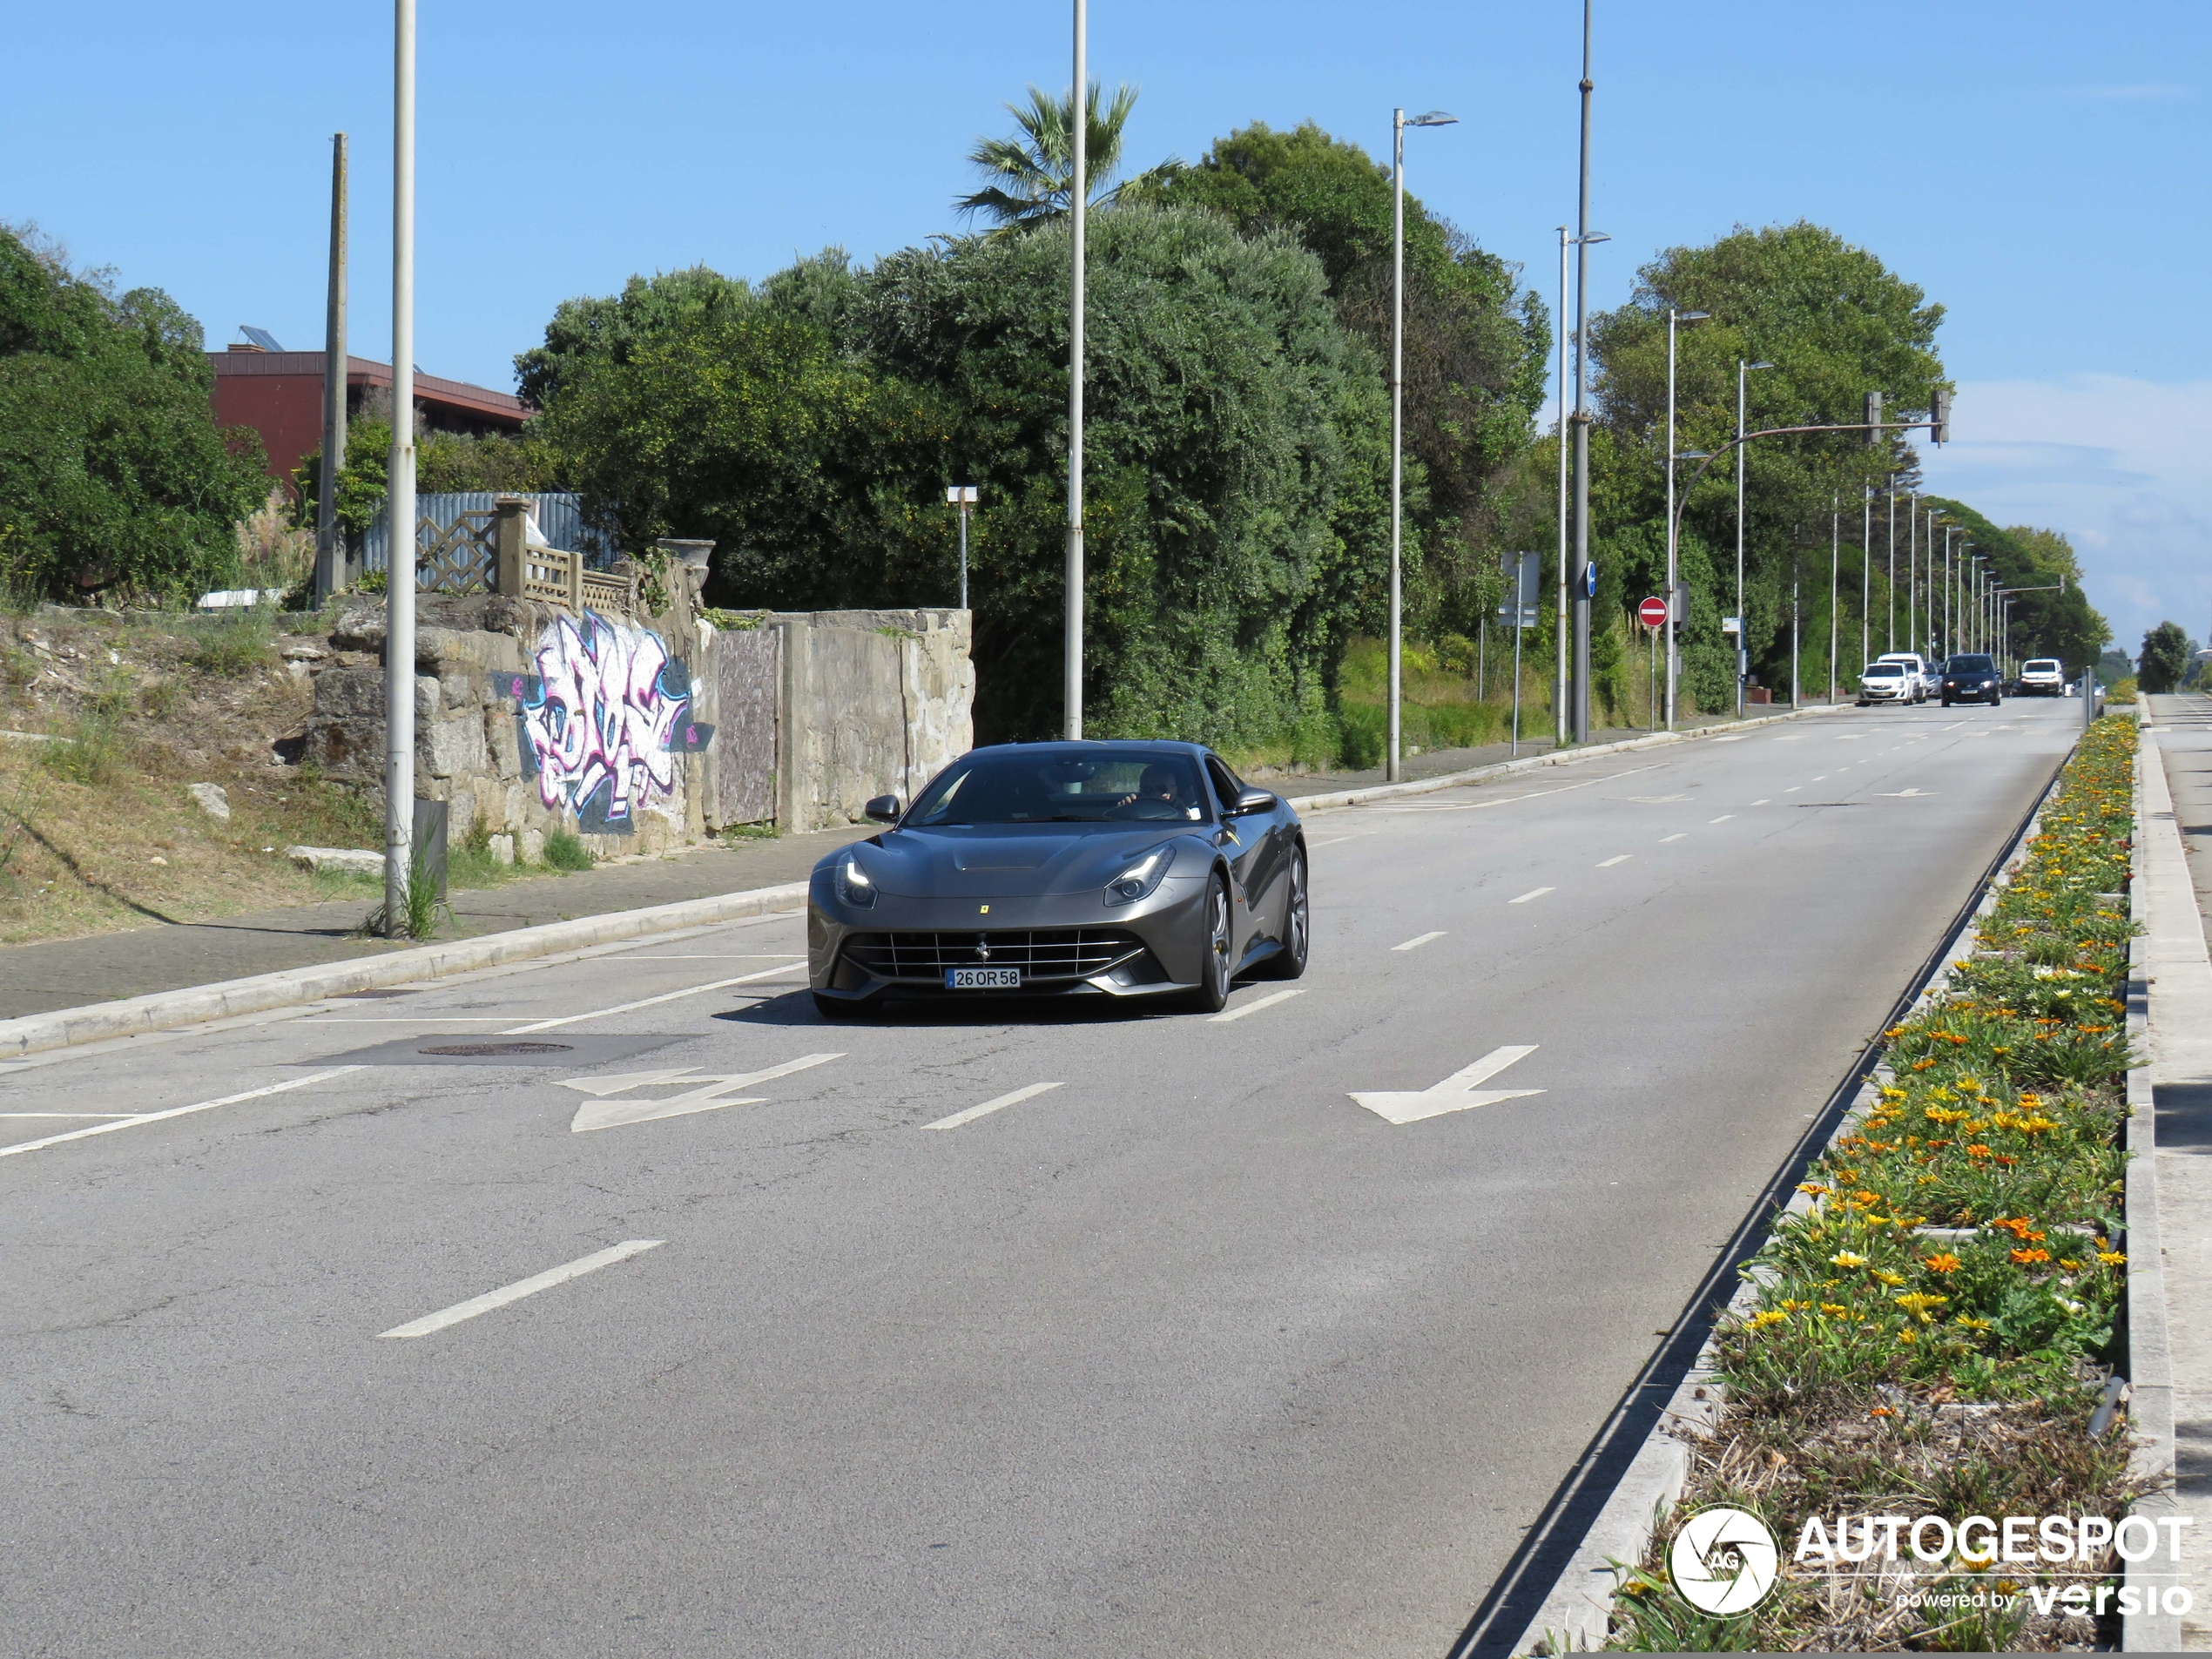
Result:
{"label": "purple and white graffiti lettering painted on the stone wall", "polygon": [[650,628],[597,611],[562,617],[538,637],[535,668],[493,675],[493,688],[515,699],[538,799],[571,810],[584,834],[630,834],[639,807],[675,792],[677,757],[714,737],[690,717],[690,670]]}

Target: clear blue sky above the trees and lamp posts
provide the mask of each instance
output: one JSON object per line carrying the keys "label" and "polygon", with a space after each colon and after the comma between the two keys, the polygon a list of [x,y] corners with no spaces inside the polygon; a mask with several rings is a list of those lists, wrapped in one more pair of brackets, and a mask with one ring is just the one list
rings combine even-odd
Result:
{"label": "clear blue sky above the trees and lamp posts", "polygon": [[[761,276],[953,230],[962,155],[1068,7],[420,0],[420,296],[434,374],[511,385],[553,305],[695,261]],[[1144,88],[1130,157],[1318,119],[1546,294],[1573,215],[1577,0],[1093,0],[1091,66]],[[389,343],[389,4],[18,9],[0,219],[170,290],[210,343],[323,330],[330,133],[354,139],[352,343]],[[1929,478],[2075,535],[2132,648],[2212,633],[2212,7],[2128,0],[1597,4],[1595,307],[1670,243],[1816,219],[1949,307],[1958,442]]]}

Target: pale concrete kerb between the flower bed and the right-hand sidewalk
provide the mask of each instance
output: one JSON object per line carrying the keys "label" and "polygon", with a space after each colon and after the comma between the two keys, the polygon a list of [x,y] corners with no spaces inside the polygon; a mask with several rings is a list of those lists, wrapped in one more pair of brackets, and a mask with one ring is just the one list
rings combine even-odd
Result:
{"label": "pale concrete kerb between the flower bed and the right-hand sidewalk", "polygon": [[[2159,1217],[2157,1086],[2166,1066],[2161,1026],[2188,1026],[2183,998],[2212,998],[2205,984],[2205,942],[2197,918],[2188,852],[2166,787],[2157,732],[2146,730],[2135,750],[2135,856],[2128,880],[2128,918],[2141,927],[2128,940],[2128,1427],[2135,1453],[2128,1473],[2157,1482],[2135,1513],[2152,1524],[2179,1515],[2174,1493],[2179,1460],[2174,1422],[2174,1367],[2166,1298],[2166,1234]],[[2190,984],[2194,980],[2194,984]],[[2194,998],[2192,998],[2194,1000]],[[2181,1015],[2177,1020],[2177,1015]],[[2150,1595],[2174,1582],[2159,1562],[2130,1562],[2128,1586]],[[2124,1652],[2181,1652],[2181,1615],[2137,1613],[2121,1619]]]}

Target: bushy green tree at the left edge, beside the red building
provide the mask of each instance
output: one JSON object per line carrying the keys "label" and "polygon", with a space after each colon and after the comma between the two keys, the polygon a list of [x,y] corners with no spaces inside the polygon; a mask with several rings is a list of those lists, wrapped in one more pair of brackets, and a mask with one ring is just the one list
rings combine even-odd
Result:
{"label": "bushy green tree at the left edge, beside the red building", "polygon": [[223,586],[261,442],[217,429],[199,323],[0,228],[0,582],[53,599]]}

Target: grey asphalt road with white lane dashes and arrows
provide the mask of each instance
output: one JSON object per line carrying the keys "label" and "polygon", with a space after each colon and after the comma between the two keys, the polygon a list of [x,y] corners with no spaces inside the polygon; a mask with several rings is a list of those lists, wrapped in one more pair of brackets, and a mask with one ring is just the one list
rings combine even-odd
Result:
{"label": "grey asphalt road with white lane dashes and arrows", "polygon": [[0,1066],[0,1650],[1442,1655],[2077,721],[1318,814],[1219,1020],[765,918]]}

